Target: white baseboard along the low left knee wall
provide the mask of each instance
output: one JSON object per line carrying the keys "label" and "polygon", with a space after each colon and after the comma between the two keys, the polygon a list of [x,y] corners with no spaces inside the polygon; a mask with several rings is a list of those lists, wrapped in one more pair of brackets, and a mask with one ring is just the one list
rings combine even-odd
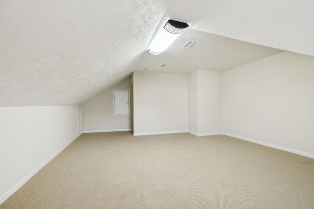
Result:
{"label": "white baseboard along the low left knee wall", "polygon": [[14,192],[16,192],[21,186],[23,186],[31,177],[33,177],[40,169],[42,169],[46,164],[48,164],[53,158],[55,158],[60,152],[62,152],[67,146],[69,146],[75,139],[77,139],[81,134],[72,139],[70,142],[61,147],[58,151],[56,151],[52,156],[50,156],[46,161],[38,165],[33,171],[31,171],[26,177],[24,177],[21,181],[19,181],[16,185],[14,185],[11,189],[5,192],[0,197],[0,205],[8,199]]}

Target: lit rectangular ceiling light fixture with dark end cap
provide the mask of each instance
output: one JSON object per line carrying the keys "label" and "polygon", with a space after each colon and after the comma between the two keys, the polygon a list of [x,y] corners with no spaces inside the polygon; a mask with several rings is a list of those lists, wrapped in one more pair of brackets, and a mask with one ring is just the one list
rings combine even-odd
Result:
{"label": "lit rectangular ceiling light fixture with dark end cap", "polygon": [[187,23],[169,20],[153,38],[148,53],[153,55],[161,54],[187,27]]}

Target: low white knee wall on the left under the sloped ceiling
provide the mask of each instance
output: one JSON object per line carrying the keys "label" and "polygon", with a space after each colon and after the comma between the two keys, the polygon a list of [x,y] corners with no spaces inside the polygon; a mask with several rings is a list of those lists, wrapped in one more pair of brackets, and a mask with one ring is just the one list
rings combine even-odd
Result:
{"label": "low white knee wall on the left under the sloped ceiling", "polygon": [[78,137],[80,108],[0,108],[0,204]]}

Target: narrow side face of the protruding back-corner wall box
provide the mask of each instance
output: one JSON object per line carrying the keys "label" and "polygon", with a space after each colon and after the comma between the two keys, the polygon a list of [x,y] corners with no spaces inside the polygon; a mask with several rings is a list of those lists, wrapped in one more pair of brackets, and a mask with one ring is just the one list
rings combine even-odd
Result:
{"label": "narrow side face of the protruding back-corner wall box", "polygon": [[188,89],[188,131],[194,135],[198,135],[198,70],[188,73],[187,89]]}

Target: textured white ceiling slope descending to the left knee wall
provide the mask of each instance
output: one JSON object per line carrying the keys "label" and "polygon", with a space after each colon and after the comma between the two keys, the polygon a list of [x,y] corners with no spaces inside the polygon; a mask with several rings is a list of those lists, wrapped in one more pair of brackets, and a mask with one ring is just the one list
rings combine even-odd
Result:
{"label": "textured white ceiling slope descending to the left knee wall", "polygon": [[0,4],[0,106],[85,103],[130,75],[164,11],[144,0]]}

